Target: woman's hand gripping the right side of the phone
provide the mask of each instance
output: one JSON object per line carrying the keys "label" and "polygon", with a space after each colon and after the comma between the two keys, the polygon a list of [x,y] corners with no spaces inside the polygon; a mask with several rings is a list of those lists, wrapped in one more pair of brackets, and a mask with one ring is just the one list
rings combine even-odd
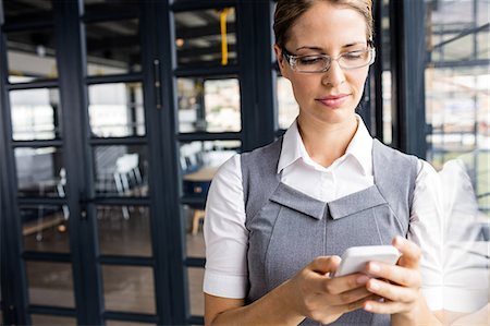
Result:
{"label": "woman's hand gripping the right side of the phone", "polygon": [[376,262],[366,266],[366,273],[373,277],[367,281],[366,288],[384,301],[367,301],[364,309],[377,314],[391,314],[393,325],[412,325],[421,312],[428,312],[420,292],[421,251],[402,237],[395,237],[392,244],[402,253],[395,266]]}

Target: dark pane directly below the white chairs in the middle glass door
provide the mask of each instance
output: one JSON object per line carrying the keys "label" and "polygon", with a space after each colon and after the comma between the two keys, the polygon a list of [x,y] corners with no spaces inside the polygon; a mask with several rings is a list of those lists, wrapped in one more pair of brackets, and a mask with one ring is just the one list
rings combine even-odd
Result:
{"label": "dark pane directly below the white chairs in the middle glass door", "polygon": [[150,216],[143,206],[98,206],[102,255],[151,256]]}

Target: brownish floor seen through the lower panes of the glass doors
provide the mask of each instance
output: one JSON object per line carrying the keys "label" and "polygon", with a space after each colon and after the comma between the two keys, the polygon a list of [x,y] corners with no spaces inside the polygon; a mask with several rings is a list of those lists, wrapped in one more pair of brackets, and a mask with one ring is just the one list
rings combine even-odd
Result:
{"label": "brownish floor seen through the lower panes of the glass doors", "polygon": [[[205,245],[199,228],[193,236],[191,229],[192,210],[185,209],[187,256],[204,257]],[[130,207],[128,219],[122,209],[99,207],[98,240],[102,254],[151,256],[149,214],[147,208]],[[41,252],[69,252],[68,224],[61,218],[45,216],[24,225],[24,249]],[[53,224],[52,220],[62,220]],[[33,227],[36,224],[38,228]],[[27,231],[28,230],[28,231]],[[26,262],[29,302],[32,304],[74,307],[73,278],[71,264]],[[189,306],[192,315],[204,315],[203,268],[188,268]],[[105,307],[118,312],[155,314],[154,275],[151,267],[102,265],[101,278]],[[47,315],[32,315],[33,325],[75,325],[73,318]],[[148,325],[107,321],[107,325]]]}

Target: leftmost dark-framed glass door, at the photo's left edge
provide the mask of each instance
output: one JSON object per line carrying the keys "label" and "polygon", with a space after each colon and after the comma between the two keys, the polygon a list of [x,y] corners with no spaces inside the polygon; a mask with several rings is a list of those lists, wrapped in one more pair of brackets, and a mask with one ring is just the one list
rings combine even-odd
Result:
{"label": "leftmost dark-framed glass door, at the photo's left edge", "polygon": [[[5,323],[19,314],[21,324],[75,325],[74,238],[64,192],[69,108],[60,97],[54,9],[49,1],[4,2],[3,13],[2,165],[10,173],[2,173],[2,261],[9,262],[2,262],[2,290],[15,297],[3,317]],[[14,281],[12,270],[22,277]],[[21,312],[24,303],[28,309]]]}

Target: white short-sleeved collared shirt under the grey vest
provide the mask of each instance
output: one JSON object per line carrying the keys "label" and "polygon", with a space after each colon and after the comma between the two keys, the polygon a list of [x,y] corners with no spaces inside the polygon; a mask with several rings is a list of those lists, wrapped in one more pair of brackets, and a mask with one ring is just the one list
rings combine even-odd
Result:
{"label": "white short-sleeved collared shirt under the grey vest", "polygon": [[[278,173],[281,182],[322,202],[373,184],[372,138],[357,116],[358,128],[345,154],[324,168],[306,152],[296,121],[284,134]],[[248,230],[245,228],[240,155],[224,162],[209,189],[204,236],[208,294],[243,299],[247,291]],[[420,245],[424,293],[431,310],[442,309],[442,203],[436,170],[419,160],[408,239]]]}

